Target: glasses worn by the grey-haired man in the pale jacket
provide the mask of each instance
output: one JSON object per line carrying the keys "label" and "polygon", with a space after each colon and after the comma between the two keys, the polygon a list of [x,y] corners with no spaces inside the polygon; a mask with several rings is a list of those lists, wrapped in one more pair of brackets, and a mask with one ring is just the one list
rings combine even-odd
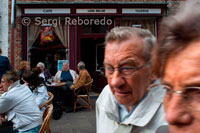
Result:
{"label": "glasses worn by the grey-haired man in the pale jacket", "polygon": [[135,72],[142,69],[144,66],[146,66],[148,64],[149,64],[149,62],[140,67],[126,66],[126,67],[119,67],[119,68],[114,68],[114,67],[105,65],[105,67],[102,67],[100,69],[100,72],[102,75],[105,75],[106,77],[112,77],[112,75],[115,71],[119,71],[120,76],[122,76],[124,78],[131,78]]}

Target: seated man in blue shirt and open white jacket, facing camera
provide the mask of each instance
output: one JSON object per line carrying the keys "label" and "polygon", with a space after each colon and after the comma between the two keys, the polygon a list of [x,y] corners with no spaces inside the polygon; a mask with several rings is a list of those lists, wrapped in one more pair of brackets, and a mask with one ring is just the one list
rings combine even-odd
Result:
{"label": "seated man in blue shirt and open white jacket, facing camera", "polygon": [[[70,90],[70,86],[75,83],[78,75],[74,70],[69,69],[68,63],[64,62],[62,70],[58,71],[55,75],[55,80],[58,82],[66,82],[66,86],[63,86],[61,91],[61,99],[65,106],[69,107],[67,110],[72,111],[74,107],[74,95],[73,91]],[[67,111],[67,112],[70,112]]]}

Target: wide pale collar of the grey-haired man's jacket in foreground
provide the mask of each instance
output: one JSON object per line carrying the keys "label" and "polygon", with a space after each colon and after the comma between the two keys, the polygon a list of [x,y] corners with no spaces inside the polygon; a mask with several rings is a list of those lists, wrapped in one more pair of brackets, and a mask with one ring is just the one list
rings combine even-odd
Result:
{"label": "wide pale collar of the grey-haired man's jacket in foreground", "polygon": [[[109,108],[106,109],[106,114],[110,119],[120,123],[118,102],[113,93],[111,92],[110,88],[109,91],[109,93],[111,93],[112,98],[109,99],[109,102],[106,104],[106,106],[109,106]],[[125,118],[125,120],[122,122],[123,124],[131,124],[135,126],[144,127],[152,120],[157,110],[160,108],[161,103],[153,101],[151,93],[163,99],[165,91],[158,87],[153,88],[151,92],[149,92],[146,95],[146,97],[144,97],[143,100],[140,101],[140,103],[137,105],[137,107],[131,113],[131,115],[128,118]]]}

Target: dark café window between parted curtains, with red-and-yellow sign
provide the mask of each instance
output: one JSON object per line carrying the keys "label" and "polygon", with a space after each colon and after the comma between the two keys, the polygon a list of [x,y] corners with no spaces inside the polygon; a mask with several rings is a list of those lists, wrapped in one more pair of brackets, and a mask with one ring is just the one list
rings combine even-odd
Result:
{"label": "dark caf\u00e9 window between parted curtains, with red-and-yellow sign", "polygon": [[43,62],[50,73],[55,75],[57,72],[57,61],[66,60],[66,48],[57,34],[52,29],[47,28],[44,27],[42,30],[39,30],[40,32],[36,40],[29,48],[29,56],[32,68],[38,62]]}

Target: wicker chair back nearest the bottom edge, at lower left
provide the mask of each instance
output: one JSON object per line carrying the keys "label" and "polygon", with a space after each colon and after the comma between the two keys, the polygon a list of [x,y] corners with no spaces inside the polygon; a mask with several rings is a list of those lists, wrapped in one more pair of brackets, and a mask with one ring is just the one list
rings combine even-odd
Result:
{"label": "wicker chair back nearest the bottom edge, at lower left", "polygon": [[42,123],[39,133],[44,133],[44,132],[51,133],[49,126],[50,126],[50,119],[51,119],[52,113],[53,113],[53,105],[52,104],[47,105],[43,113],[43,123]]}

